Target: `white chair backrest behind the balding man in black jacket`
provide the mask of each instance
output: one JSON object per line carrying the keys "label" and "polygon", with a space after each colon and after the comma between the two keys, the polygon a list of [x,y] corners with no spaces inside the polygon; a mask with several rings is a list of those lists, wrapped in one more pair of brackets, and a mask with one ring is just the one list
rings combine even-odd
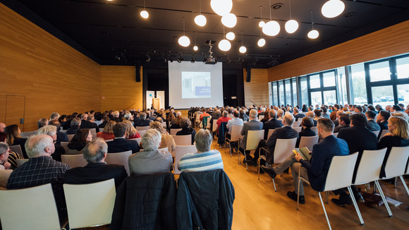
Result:
{"label": "white chair backrest behind the balding man in black jacket", "polygon": [[88,184],[63,184],[70,229],[111,224],[116,197],[114,179]]}

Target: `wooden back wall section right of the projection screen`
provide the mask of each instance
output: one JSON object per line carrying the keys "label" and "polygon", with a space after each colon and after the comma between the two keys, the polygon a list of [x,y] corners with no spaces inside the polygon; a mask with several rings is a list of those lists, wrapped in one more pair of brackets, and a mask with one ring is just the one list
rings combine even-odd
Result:
{"label": "wooden back wall section right of the projection screen", "polygon": [[268,69],[252,68],[250,83],[246,82],[247,71],[244,75],[244,102],[246,106],[253,104],[269,104]]}

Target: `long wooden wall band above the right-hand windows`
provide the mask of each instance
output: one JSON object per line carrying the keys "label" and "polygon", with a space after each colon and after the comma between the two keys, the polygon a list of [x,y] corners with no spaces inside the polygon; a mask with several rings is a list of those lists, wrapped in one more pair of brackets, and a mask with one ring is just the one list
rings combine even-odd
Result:
{"label": "long wooden wall band above the right-hand windows", "polygon": [[269,68],[269,81],[409,52],[409,20]]}

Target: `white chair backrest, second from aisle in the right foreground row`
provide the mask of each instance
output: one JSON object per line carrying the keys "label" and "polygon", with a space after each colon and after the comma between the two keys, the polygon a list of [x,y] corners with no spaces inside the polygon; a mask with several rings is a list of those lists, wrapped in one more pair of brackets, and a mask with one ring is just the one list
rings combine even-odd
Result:
{"label": "white chair backrest, second from aisle in the right foreground row", "polygon": [[355,184],[376,181],[381,173],[386,147],[381,150],[364,150],[355,176]]}

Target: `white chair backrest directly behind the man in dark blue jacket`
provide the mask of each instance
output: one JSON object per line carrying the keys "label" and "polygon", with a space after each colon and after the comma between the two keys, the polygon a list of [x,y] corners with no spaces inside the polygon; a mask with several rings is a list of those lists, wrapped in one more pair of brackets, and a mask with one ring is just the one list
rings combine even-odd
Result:
{"label": "white chair backrest directly behind the man in dark blue jacket", "polygon": [[356,159],[358,159],[358,152],[346,156],[332,157],[328,174],[326,175],[324,191],[350,186],[352,184]]}

